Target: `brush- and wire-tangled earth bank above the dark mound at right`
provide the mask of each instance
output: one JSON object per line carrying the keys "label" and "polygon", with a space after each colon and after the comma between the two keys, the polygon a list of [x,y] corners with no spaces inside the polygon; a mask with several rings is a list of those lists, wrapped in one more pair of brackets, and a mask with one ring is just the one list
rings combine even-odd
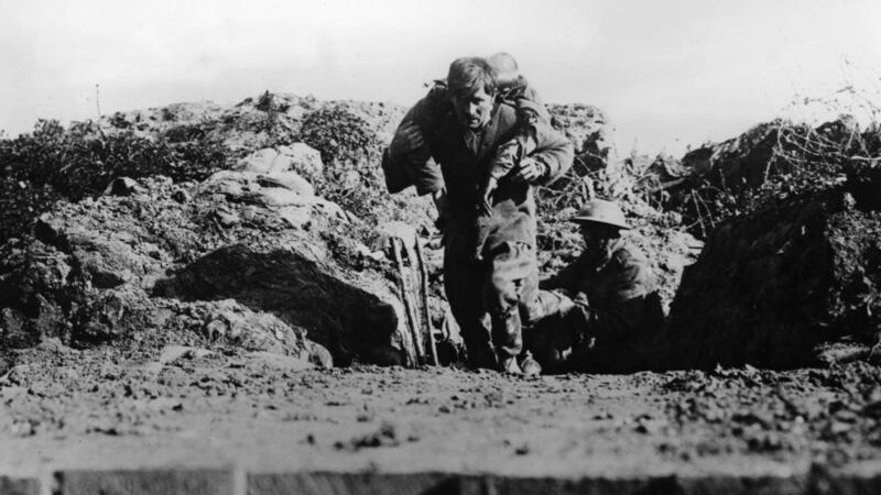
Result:
{"label": "brush- and wire-tangled earth bank above the dark mound at right", "polygon": [[[703,239],[728,218],[840,183],[849,163],[881,153],[878,135],[847,116],[816,128],[775,120],[686,153],[682,167],[655,168],[654,190]],[[677,177],[664,177],[670,172]]]}

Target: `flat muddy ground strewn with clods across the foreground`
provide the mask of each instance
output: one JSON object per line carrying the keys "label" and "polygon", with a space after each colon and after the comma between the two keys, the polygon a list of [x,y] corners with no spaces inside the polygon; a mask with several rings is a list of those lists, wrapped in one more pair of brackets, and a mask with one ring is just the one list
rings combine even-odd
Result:
{"label": "flat muddy ground strewn with clods across the foreground", "polygon": [[51,466],[785,475],[881,459],[881,372],[302,369],[230,348],[77,351],[0,377],[0,474]]}

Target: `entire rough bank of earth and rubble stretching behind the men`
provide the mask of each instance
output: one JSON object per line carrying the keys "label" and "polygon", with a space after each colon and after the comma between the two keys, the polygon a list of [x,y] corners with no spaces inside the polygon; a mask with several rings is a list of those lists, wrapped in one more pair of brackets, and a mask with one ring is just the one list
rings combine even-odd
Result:
{"label": "entire rough bank of earth and rubble stretching behind the men", "polygon": [[[176,170],[173,179],[155,175],[163,169],[160,167],[132,177],[112,177],[99,189],[95,180],[83,183],[87,188],[81,191],[76,189],[79,183],[62,183],[67,188],[62,189],[67,201],[42,207],[47,210],[35,222],[35,239],[12,238],[3,244],[9,254],[0,266],[4,346],[24,349],[50,338],[75,346],[155,339],[163,344],[221,342],[264,352],[308,354],[304,359],[322,365],[328,362],[326,353],[337,365],[354,360],[405,362],[407,338],[401,340],[400,336],[406,334],[402,331],[409,319],[416,319],[413,316],[435,329],[455,326],[450,324],[442,290],[442,249],[433,224],[434,207],[413,190],[389,196],[381,176],[380,151],[404,110],[388,103],[319,101],[264,92],[235,107],[178,103],[105,119],[99,123],[100,131],[121,133],[124,139],[115,146],[127,153],[160,139],[170,146],[184,145],[174,148],[177,154],[173,156],[177,157],[189,156],[186,145],[193,143],[221,145],[226,152],[222,160],[203,156],[206,160],[199,162],[197,174],[168,162],[176,164],[168,168]],[[731,294],[742,289],[746,282],[739,278],[709,284],[711,274],[744,276],[747,265],[752,266],[749,273],[753,275],[766,270],[776,273],[783,270],[776,260],[780,256],[795,256],[786,263],[804,263],[797,258],[798,249],[814,253],[819,248],[798,244],[806,241],[791,224],[838,226],[837,231],[812,239],[818,245],[835,248],[838,244],[824,239],[852,238],[857,248],[846,243],[839,251],[855,251],[855,260],[871,258],[872,251],[867,248],[871,243],[864,233],[872,228],[872,217],[866,212],[877,207],[872,202],[877,161],[871,160],[881,143],[877,129],[860,131],[848,121],[817,129],[775,121],[737,139],[703,146],[682,160],[618,160],[607,144],[609,123],[601,111],[585,105],[550,106],[550,111],[553,124],[576,145],[577,157],[562,180],[536,194],[543,275],[552,274],[580,251],[568,217],[591,198],[612,199],[634,227],[627,235],[645,251],[660,276],[665,308],[678,289],[671,334],[674,346],[687,354],[685,363],[697,363],[697,358],[690,356],[698,356],[700,366],[713,360],[788,366],[809,362],[807,356],[817,354],[813,349],[824,342],[827,360],[868,355],[866,346],[871,346],[871,338],[851,321],[856,317],[841,317],[847,311],[820,301],[815,293],[811,296],[814,299],[805,296],[798,300],[816,315],[831,311],[827,319],[834,321],[828,324],[835,330],[797,333],[798,343],[793,345],[798,349],[779,351],[780,355],[772,355],[776,351],[769,348],[780,348],[781,342],[763,340],[780,332],[754,323],[764,316],[714,316],[721,311],[718,308],[757,305],[750,297],[759,295],[787,307],[790,302],[784,300],[796,300],[790,293],[802,294],[797,284],[803,284],[792,282],[796,285],[784,290],[783,285],[790,284],[786,277],[795,273],[788,272],[790,265],[773,289]],[[46,135],[65,135],[52,125],[41,129]],[[96,129],[85,125],[76,132]],[[847,146],[841,147],[847,140]],[[837,157],[835,163],[811,165],[819,152],[834,145],[839,146],[836,150],[846,148],[853,160]],[[853,166],[846,167],[845,162]],[[217,169],[219,164],[224,165],[221,169]],[[830,164],[834,167],[824,168]],[[855,172],[857,165],[862,172]],[[86,169],[91,170],[88,166]],[[809,174],[796,174],[800,170]],[[840,186],[845,174],[848,195],[824,193]],[[794,177],[794,182],[783,189],[780,179],[773,183],[774,189],[768,187],[769,177]],[[42,197],[37,194],[40,184],[6,186],[31,191],[29,197]],[[100,195],[101,190],[106,194]],[[708,196],[707,191],[718,195]],[[753,200],[757,196],[750,196],[753,199],[747,202],[737,201],[751,191],[761,193],[765,202]],[[800,196],[800,191],[804,194]],[[737,218],[769,198],[777,199],[773,208],[749,220]],[[737,208],[722,211],[731,201]],[[713,216],[700,210],[701,205],[709,204],[715,208]],[[735,220],[722,222],[726,215]],[[847,227],[848,221],[853,226]],[[749,227],[751,222],[763,227]],[[402,302],[401,275],[388,252],[389,226],[409,226],[412,231],[407,231],[407,239],[418,238],[417,246],[426,260],[424,278],[429,280],[427,304]],[[774,233],[764,232],[768,229]],[[705,238],[708,246],[701,261],[688,271],[687,283],[679,289],[683,270],[697,258]],[[413,251],[410,244],[407,249]],[[783,254],[770,254],[774,249],[783,250]],[[839,270],[844,262],[836,256],[824,257],[815,268],[822,265],[829,272],[831,264]],[[404,255],[403,261],[410,257]],[[857,277],[851,272],[871,274],[873,268],[867,263],[853,262],[852,270],[833,272],[851,278]],[[420,277],[414,273],[406,277],[404,286],[416,287]],[[836,284],[845,284],[839,282]],[[755,285],[755,280],[750,283]],[[850,286],[859,285],[853,284]],[[869,299],[874,294],[873,289],[848,290]],[[307,297],[296,299],[301,295]],[[429,308],[426,317],[423,307]],[[700,311],[693,309],[696,307]],[[409,315],[407,308],[415,315]],[[769,320],[780,322],[784,318],[781,315]],[[797,311],[788,315],[794,319],[785,324],[801,324],[802,320],[794,317]],[[254,324],[240,323],[242,318]],[[814,329],[812,318],[803,319]],[[839,326],[845,320],[850,321],[847,328]],[[710,336],[707,326],[716,321],[725,330]],[[853,339],[855,332],[863,333]],[[857,342],[845,342],[846,337]],[[442,353],[456,354],[455,349],[445,348],[455,339],[445,336],[439,343],[445,349]],[[706,346],[714,351],[704,352]]]}

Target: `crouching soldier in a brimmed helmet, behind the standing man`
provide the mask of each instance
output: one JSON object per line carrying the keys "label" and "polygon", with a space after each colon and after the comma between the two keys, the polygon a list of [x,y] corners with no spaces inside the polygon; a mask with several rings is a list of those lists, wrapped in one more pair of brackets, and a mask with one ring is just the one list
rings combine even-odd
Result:
{"label": "crouching soldier in a brimmed helmet, behind the standing man", "polygon": [[630,373],[663,366],[664,312],[657,280],[613,202],[594,200],[573,219],[585,250],[543,280],[527,346],[545,373]]}

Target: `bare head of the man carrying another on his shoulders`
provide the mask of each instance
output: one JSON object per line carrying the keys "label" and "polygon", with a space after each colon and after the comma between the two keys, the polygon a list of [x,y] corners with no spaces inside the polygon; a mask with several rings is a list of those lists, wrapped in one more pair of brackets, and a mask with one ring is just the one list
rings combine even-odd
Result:
{"label": "bare head of the man carrying another on his shoulders", "polygon": [[453,108],[459,122],[477,131],[489,122],[496,99],[496,72],[479,57],[463,57],[449,64],[447,74]]}

